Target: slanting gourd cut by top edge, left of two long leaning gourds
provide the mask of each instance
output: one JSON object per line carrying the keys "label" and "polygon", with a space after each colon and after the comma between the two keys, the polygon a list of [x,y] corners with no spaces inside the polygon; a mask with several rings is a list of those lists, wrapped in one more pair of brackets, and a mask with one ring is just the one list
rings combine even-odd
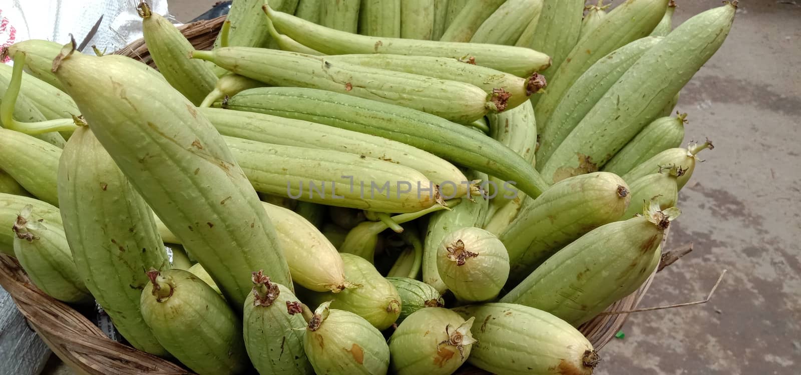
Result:
{"label": "slanting gourd cut by top edge, left of two long leaning gourds", "polygon": [[668,0],[627,0],[609,12],[592,33],[578,40],[559,65],[559,70],[553,72],[553,84],[535,107],[537,120],[545,129],[570,86],[606,54],[648,36],[665,14],[667,2]]}

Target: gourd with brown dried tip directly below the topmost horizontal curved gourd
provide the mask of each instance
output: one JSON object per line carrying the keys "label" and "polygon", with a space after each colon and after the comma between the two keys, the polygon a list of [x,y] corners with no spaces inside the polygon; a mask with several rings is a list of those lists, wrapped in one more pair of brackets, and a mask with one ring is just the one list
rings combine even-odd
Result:
{"label": "gourd with brown dried tip directly below the topmost horizontal curved gourd", "polygon": [[[484,66],[477,66],[454,58],[432,58],[429,56],[406,56],[402,54],[340,54],[329,56],[328,61],[347,62],[360,66],[397,72],[425,75],[427,77],[458,81],[477,86],[487,94],[503,94],[504,112],[526,102],[529,96],[545,87],[545,77],[532,74],[520,78]],[[501,90],[505,91],[503,93]],[[507,98],[508,97],[508,98]],[[498,110],[501,110],[498,107]],[[489,113],[493,114],[494,112]]]}

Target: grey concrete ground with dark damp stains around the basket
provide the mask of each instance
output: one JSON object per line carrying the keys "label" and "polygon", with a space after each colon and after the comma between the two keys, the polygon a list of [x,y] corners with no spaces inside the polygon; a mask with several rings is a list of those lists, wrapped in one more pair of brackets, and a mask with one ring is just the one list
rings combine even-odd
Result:
{"label": "grey concrete ground with dark damp stains around the basket", "polygon": [[[614,3],[619,3],[615,1]],[[675,22],[717,0],[677,0]],[[214,1],[170,0],[194,18]],[[670,243],[694,252],[659,273],[602,350],[599,375],[797,374],[801,366],[801,1],[743,0],[727,42],[682,91],[686,141],[714,140],[681,193]]]}

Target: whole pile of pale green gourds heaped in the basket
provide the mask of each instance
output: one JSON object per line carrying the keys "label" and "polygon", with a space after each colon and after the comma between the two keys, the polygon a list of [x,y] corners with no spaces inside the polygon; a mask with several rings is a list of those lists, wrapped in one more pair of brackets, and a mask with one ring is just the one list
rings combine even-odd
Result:
{"label": "whole pile of pale green gourds heaped in the basket", "polygon": [[201,375],[593,373],[736,3],[235,0],[209,51],[142,3],[158,70],[18,42],[0,251]]}

